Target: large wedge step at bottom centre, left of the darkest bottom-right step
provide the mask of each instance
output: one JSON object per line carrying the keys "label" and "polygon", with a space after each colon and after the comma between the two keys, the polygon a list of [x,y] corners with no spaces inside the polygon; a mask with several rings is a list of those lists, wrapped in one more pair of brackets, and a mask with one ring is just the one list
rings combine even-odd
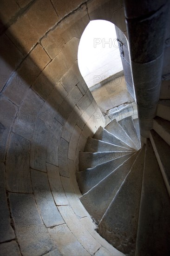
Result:
{"label": "large wedge step at bottom centre, left of the darkest bottom-right step", "polygon": [[98,225],[98,233],[125,255],[134,256],[145,146]]}

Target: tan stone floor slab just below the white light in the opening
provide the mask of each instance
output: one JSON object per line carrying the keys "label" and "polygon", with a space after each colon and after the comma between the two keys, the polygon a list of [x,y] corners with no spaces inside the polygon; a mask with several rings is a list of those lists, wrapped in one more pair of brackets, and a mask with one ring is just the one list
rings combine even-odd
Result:
{"label": "tan stone floor slab just below the white light in the opening", "polygon": [[103,86],[96,86],[91,92],[102,112],[127,101],[134,101],[127,91],[124,76],[117,77]]}

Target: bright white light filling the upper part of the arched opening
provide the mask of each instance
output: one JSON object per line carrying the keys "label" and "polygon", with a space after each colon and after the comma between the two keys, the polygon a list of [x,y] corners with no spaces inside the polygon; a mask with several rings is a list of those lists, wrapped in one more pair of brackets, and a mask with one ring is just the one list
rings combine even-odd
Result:
{"label": "bright white light filling the upper part of the arched opening", "polygon": [[123,70],[113,23],[90,21],[78,46],[78,67],[88,87]]}

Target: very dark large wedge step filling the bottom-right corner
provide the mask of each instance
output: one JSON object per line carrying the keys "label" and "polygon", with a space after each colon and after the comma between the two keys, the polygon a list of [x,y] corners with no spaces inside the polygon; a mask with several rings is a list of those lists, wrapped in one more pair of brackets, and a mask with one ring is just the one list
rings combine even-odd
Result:
{"label": "very dark large wedge step filling the bottom-right corner", "polygon": [[170,198],[148,139],[135,255],[170,255],[170,229],[167,227],[170,227]]}

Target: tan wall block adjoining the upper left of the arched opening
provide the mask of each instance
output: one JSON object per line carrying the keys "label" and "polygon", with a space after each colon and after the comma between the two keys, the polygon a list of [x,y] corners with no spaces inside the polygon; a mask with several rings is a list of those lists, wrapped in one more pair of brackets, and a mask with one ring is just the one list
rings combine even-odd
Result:
{"label": "tan wall block adjoining the upper left of the arched opening", "polygon": [[59,23],[59,26],[49,31],[46,38],[41,40],[41,44],[44,44],[46,52],[53,59],[65,50],[65,44],[73,37],[80,39],[89,21],[86,6],[83,5],[74,15],[69,15]]}

